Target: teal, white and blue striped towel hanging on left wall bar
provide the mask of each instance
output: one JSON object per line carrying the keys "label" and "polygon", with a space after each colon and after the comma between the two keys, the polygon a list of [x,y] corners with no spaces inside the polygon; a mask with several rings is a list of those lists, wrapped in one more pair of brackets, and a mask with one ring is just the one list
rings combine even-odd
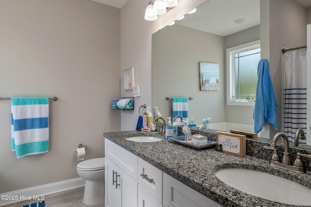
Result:
{"label": "teal, white and blue striped towel hanging on left wall bar", "polygon": [[17,158],[49,151],[49,98],[12,97],[12,150]]}

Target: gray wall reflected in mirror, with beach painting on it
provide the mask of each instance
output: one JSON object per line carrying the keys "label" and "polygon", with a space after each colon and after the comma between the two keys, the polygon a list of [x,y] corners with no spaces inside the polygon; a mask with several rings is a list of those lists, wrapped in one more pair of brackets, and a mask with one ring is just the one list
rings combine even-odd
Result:
{"label": "gray wall reflected in mirror, with beach painting on it", "polygon": [[[220,89],[200,91],[199,62],[219,64]],[[152,35],[152,105],[172,116],[166,97],[193,97],[189,118],[225,121],[224,37],[174,24]],[[173,120],[173,119],[172,119]],[[190,119],[189,119],[190,120]]]}

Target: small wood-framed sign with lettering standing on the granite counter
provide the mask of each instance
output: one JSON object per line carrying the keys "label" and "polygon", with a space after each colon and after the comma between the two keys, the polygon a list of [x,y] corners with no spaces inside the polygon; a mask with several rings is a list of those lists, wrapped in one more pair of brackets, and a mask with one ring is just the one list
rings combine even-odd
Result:
{"label": "small wood-framed sign with lettering standing on the granite counter", "polygon": [[223,152],[245,157],[246,155],[246,136],[229,132],[217,132],[217,143],[222,144]]}

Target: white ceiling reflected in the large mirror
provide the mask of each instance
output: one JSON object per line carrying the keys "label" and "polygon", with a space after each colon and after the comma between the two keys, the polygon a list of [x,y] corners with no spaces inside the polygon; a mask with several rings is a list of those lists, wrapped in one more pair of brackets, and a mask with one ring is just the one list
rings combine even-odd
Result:
{"label": "white ceiling reflected in the large mirror", "polygon": [[[234,22],[241,18],[243,23]],[[260,24],[260,0],[208,0],[175,24],[227,36]]]}

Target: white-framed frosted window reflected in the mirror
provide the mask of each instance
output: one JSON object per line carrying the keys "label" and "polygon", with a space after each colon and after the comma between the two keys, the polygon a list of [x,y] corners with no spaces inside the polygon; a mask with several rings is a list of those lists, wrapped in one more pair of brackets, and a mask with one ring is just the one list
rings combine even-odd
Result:
{"label": "white-framed frosted window reflected in the mirror", "polygon": [[260,40],[226,49],[227,105],[254,105],[259,61]]}

